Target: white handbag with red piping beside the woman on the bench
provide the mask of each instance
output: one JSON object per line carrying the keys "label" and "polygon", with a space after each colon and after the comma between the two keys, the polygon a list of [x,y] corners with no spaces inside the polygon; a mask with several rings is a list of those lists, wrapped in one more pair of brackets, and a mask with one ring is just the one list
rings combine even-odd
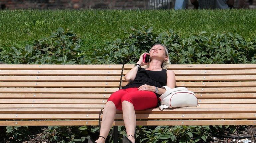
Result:
{"label": "white handbag with red piping beside the woman on the bench", "polygon": [[166,108],[178,108],[178,107],[196,107],[197,98],[194,92],[189,91],[187,88],[179,87],[171,89],[164,86],[166,91],[158,99],[161,102],[159,106],[160,110]]}

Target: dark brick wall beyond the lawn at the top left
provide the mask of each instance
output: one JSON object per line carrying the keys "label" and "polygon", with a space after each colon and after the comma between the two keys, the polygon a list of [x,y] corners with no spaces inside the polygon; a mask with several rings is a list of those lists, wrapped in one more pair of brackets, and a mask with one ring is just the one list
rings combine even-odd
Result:
{"label": "dark brick wall beyond the lawn at the top left", "polygon": [[1,9],[147,9],[149,0],[0,0]]}

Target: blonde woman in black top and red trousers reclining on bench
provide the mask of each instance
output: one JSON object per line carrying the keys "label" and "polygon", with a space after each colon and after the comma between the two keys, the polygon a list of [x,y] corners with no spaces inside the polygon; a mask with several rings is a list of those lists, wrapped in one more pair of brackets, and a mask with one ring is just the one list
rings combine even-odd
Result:
{"label": "blonde woman in black top and red trousers reclining on bench", "polygon": [[[103,119],[98,140],[89,138],[88,143],[105,143],[109,130],[114,122],[116,110],[123,111],[123,120],[127,132],[123,143],[135,143],[135,110],[145,110],[158,106],[158,97],[166,90],[163,86],[175,88],[175,73],[167,70],[169,54],[164,45],[156,44],[150,51],[150,62],[143,62],[143,53],[135,66],[125,75],[129,83],[114,92],[108,98],[103,112]],[[140,66],[147,65],[147,68]]]}

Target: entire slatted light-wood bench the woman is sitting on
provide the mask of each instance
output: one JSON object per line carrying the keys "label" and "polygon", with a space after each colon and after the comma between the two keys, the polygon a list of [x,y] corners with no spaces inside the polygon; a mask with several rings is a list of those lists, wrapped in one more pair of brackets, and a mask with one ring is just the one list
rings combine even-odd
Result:
{"label": "entire slatted light-wood bench the woman is sitting on", "polygon": [[[98,125],[107,98],[127,84],[123,76],[132,67],[0,65],[0,125]],[[177,87],[195,92],[198,106],[136,111],[137,125],[256,125],[256,64],[169,69]],[[113,125],[124,125],[121,111]]]}

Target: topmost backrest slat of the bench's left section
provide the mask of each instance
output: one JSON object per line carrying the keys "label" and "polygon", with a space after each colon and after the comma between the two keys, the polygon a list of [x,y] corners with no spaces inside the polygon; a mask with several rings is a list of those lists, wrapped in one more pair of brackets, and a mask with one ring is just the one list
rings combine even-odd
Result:
{"label": "topmost backrest slat of the bench's left section", "polygon": [[102,64],[102,65],[53,65],[53,64],[3,64],[0,70],[122,70],[123,65]]}

